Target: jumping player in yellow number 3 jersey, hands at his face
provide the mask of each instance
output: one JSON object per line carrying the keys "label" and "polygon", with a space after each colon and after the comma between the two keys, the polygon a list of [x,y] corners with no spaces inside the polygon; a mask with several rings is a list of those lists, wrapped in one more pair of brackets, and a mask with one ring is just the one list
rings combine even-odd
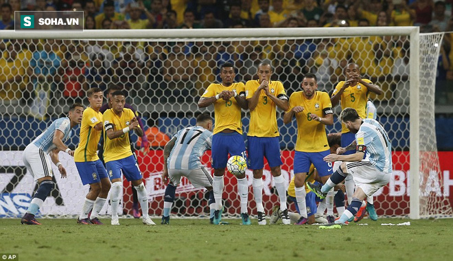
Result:
{"label": "jumping player in yellow number 3 jersey, hands at his face", "polygon": [[279,194],[283,224],[289,225],[285,179],[280,169],[282,162],[276,115],[276,107],[283,111],[288,110],[288,96],[281,82],[270,80],[272,67],[268,62],[259,63],[257,74],[258,80],[246,82],[245,89],[248,109],[250,109],[250,126],[247,133],[248,168],[253,170],[253,196],[257,204],[258,224],[266,225],[262,202],[262,178],[264,157],[266,157]]}

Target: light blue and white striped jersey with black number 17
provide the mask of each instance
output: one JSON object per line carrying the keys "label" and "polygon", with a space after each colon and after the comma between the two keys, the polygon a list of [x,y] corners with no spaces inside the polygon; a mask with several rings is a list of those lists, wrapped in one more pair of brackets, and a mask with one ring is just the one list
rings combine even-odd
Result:
{"label": "light blue and white striped jersey with black number 17", "polygon": [[200,157],[211,148],[212,133],[200,126],[184,128],[178,131],[176,141],[167,166],[174,170],[194,170],[201,168]]}

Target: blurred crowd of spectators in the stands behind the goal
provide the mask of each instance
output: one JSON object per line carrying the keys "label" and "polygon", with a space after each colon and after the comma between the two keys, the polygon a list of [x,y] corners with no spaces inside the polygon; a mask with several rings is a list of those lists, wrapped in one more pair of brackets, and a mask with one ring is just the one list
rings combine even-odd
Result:
{"label": "blurred crowd of spectators in the stands behind the goal", "polygon": [[[1,30],[14,29],[14,11],[83,10],[86,30],[419,26],[449,32],[437,64],[437,102],[453,102],[452,1],[432,0],[10,0],[1,1]],[[59,90],[79,102],[89,87],[120,83],[139,102],[189,101],[233,62],[236,80],[255,78],[257,63],[270,60],[288,92],[303,73],[316,73],[321,89],[343,80],[342,68],[360,65],[364,78],[382,83],[379,99],[407,102],[397,90],[409,75],[409,43],[403,36],[287,41],[155,43],[135,41],[3,40],[0,98],[30,104],[36,88]],[[403,85],[403,86],[402,86]]]}

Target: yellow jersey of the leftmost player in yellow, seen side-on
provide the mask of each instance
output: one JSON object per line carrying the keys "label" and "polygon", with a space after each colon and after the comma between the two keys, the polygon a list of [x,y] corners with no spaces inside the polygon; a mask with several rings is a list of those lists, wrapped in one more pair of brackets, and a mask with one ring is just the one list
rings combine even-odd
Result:
{"label": "yellow jersey of the leftmost player in yellow, seen side-on", "polygon": [[80,141],[74,152],[75,162],[97,161],[97,144],[102,131],[96,131],[94,126],[102,122],[102,113],[91,107],[86,108],[80,124]]}

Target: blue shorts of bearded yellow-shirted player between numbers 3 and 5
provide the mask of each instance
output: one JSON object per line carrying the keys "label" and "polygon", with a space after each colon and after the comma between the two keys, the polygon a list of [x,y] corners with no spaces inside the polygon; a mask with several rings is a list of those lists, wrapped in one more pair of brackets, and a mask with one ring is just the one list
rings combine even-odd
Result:
{"label": "blue shorts of bearded yellow-shirted player between numbers 3 and 5", "polygon": [[314,168],[318,170],[319,177],[332,175],[332,162],[325,162],[323,159],[325,156],[330,154],[330,150],[321,152],[294,152],[294,174],[295,173],[308,173],[310,171],[310,165],[314,165]]}

